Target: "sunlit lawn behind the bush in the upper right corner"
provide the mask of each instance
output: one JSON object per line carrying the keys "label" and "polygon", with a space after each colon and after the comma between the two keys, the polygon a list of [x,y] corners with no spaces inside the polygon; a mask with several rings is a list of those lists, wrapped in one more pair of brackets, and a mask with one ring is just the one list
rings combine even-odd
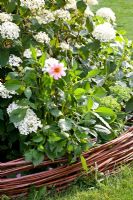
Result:
{"label": "sunlit lawn behind the bush in the upper right corner", "polygon": [[116,13],[118,29],[124,29],[133,39],[133,0],[99,0],[98,8],[110,7]]}

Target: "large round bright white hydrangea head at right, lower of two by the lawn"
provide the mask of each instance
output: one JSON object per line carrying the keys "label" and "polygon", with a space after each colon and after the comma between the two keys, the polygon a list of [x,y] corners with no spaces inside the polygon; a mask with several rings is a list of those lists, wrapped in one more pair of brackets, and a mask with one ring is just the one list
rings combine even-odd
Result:
{"label": "large round bright white hydrangea head at right, lower of two by the lawn", "polygon": [[101,42],[110,42],[111,40],[115,39],[116,31],[110,23],[105,22],[97,25],[94,28],[92,35],[95,39],[100,40]]}

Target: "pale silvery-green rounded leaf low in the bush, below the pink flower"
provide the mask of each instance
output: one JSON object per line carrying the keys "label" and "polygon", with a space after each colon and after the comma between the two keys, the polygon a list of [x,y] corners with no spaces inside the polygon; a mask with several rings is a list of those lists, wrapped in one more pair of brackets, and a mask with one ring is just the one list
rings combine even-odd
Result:
{"label": "pale silvery-green rounded leaf low in the bush, below the pink flower", "polygon": [[58,125],[62,131],[70,131],[72,129],[72,121],[70,119],[60,119]]}

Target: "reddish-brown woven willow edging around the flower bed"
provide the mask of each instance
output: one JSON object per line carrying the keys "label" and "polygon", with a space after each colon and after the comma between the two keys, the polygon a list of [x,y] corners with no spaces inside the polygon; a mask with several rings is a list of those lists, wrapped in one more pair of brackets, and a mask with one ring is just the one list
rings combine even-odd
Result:
{"label": "reddish-brown woven willow edging around the flower bed", "polygon": [[[99,172],[105,173],[106,171],[111,172],[120,164],[131,162],[133,160],[133,127],[117,139],[91,149],[83,156],[91,169],[88,175],[95,170],[95,166]],[[58,164],[62,165],[58,166]],[[49,170],[46,170],[46,167],[49,166]],[[37,188],[55,186],[61,190],[83,174],[80,161],[67,165],[65,158],[55,161],[45,160],[36,168],[39,167],[41,169],[44,167],[45,171],[23,175],[19,178],[7,178],[9,175],[29,171],[35,167],[31,163],[25,162],[23,158],[0,163],[0,196],[3,194],[10,196],[26,194],[32,185]]]}

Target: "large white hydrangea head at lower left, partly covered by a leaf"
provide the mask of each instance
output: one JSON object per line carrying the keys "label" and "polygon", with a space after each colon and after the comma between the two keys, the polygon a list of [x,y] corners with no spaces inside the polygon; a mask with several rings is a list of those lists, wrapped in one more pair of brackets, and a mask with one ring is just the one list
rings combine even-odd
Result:
{"label": "large white hydrangea head at lower left, partly covered by a leaf", "polygon": [[[10,116],[11,112],[18,108],[22,108],[22,106],[13,102],[8,106],[7,113]],[[36,133],[39,128],[42,128],[42,123],[34,111],[28,108],[24,119],[20,122],[14,123],[14,126],[18,128],[20,134],[28,135],[33,132]]]}

